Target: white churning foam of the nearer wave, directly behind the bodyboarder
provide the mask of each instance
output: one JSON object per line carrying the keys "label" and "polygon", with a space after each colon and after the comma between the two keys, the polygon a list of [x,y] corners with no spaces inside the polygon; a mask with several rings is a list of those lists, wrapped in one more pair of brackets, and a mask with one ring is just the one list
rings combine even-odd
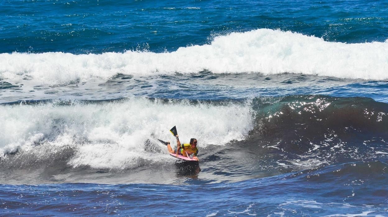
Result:
{"label": "white churning foam of the nearer wave, directly behind the bodyboarder", "polygon": [[[68,163],[74,167],[121,169],[136,167],[144,160],[173,160],[156,139],[171,140],[174,145],[169,132],[174,125],[182,142],[195,137],[200,149],[241,140],[253,128],[249,102],[192,106],[187,101],[162,103],[131,98],[66,106],[58,102],[3,105],[0,114],[0,154],[19,149],[40,158],[71,147],[74,156]],[[147,151],[146,141],[159,145],[162,152]]]}

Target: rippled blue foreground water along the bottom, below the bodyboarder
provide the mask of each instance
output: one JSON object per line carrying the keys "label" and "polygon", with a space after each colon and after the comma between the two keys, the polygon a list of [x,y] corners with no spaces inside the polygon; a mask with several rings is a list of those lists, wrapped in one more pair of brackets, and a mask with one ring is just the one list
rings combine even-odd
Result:
{"label": "rippled blue foreground water along the bottom, below the bodyboarder", "polygon": [[[0,207],[6,215],[384,216],[387,189],[374,187],[386,184],[386,169],[381,162],[355,162],[264,179],[184,186],[2,185],[6,200]],[[177,201],[187,207],[177,209]]]}

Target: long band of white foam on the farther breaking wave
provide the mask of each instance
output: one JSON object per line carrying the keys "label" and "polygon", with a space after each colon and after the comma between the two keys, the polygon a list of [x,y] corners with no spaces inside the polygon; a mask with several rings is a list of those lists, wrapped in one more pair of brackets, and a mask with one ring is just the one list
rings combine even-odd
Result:
{"label": "long band of white foam on the farther breaking wave", "polygon": [[215,37],[210,44],[174,52],[81,54],[0,54],[0,77],[66,83],[108,79],[117,73],[303,73],[338,78],[388,79],[388,40],[371,43],[326,42],[290,31],[259,29]]}

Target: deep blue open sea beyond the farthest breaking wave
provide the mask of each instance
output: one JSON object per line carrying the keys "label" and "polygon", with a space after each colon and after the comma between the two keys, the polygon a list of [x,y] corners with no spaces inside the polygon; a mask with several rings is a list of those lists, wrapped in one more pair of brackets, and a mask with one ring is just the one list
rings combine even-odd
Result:
{"label": "deep blue open sea beyond the farthest breaking wave", "polygon": [[386,1],[3,1],[2,52],[153,52],[260,28],[384,42]]}

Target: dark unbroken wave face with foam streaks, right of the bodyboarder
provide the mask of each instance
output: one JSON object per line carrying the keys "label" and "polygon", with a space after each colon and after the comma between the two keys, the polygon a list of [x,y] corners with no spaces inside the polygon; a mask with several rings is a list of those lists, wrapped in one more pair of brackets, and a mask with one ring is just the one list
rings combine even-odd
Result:
{"label": "dark unbroken wave face with foam streaks, right of the bodyboarder", "polygon": [[[256,98],[252,105],[255,127],[244,141],[231,142],[210,157],[214,171],[267,177],[359,160],[387,160],[386,103],[294,95]],[[232,163],[226,165],[225,159]]]}

